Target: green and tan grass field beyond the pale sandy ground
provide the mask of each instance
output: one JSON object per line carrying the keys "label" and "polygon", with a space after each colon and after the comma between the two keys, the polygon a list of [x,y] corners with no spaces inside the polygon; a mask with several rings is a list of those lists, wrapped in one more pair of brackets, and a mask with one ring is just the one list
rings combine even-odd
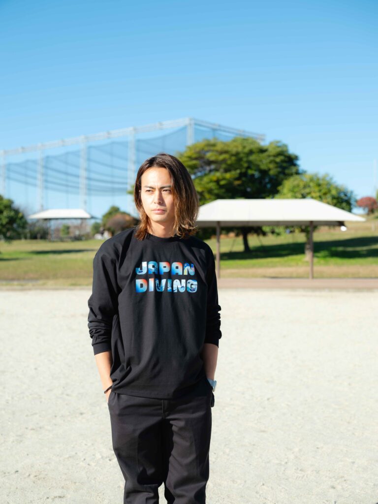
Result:
{"label": "green and tan grass field beyond the pale sandy ground", "polygon": [[[375,222],[375,226],[374,226]],[[348,224],[347,224],[348,225]],[[207,240],[214,254],[216,240]],[[304,235],[221,238],[221,276],[307,278]],[[0,242],[0,283],[35,286],[90,286],[99,240]],[[378,220],[348,225],[347,231],[321,227],[314,233],[315,278],[378,278]]]}

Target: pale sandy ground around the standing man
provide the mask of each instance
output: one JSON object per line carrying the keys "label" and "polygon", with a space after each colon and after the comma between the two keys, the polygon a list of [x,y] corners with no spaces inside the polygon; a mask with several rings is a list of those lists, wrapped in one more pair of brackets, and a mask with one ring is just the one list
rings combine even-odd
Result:
{"label": "pale sandy ground around the standing man", "polygon": [[[122,502],[89,295],[0,291],[4,504]],[[378,291],[219,300],[208,504],[375,504]]]}

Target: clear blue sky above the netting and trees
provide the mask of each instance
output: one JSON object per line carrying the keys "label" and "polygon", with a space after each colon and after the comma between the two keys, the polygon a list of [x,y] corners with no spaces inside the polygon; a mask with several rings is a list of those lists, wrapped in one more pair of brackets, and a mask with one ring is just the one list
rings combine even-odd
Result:
{"label": "clear blue sky above the netting and trees", "polygon": [[0,0],[0,149],[196,117],[375,196],[378,2]]}

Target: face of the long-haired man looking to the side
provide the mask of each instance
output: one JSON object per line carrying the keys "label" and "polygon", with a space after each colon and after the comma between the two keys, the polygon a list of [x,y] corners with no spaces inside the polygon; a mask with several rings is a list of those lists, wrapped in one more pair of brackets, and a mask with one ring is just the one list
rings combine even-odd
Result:
{"label": "face of the long-haired man looking to the side", "polygon": [[[174,223],[172,180],[169,171],[153,166],[143,173],[141,185],[142,205],[151,225],[161,225],[169,229]],[[155,212],[157,209],[161,212]]]}

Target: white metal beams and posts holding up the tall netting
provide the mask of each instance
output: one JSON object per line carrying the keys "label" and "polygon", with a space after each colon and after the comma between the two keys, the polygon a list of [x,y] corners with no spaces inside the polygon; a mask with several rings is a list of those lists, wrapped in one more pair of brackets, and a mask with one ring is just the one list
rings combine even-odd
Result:
{"label": "white metal beams and posts holding up the tall netting", "polygon": [[193,117],[186,117],[182,119],[168,120],[155,122],[152,124],[146,124],[139,127],[122,128],[119,130],[111,130],[102,133],[95,133],[92,135],[83,135],[80,137],[73,137],[62,140],[55,140],[52,142],[39,143],[35,145],[29,145],[26,147],[17,147],[15,149],[5,149],[0,150],[0,166],[2,170],[2,192],[6,193],[6,179],[7,179],[7,164],[6,159],[8,156],[15,154],[25,154],[28,152],[39,152],[38,161],[38,199],[39,199],[39,210],[43,210],[43,188],[44,188],[44,151],[47,149],[67,147],[71,145],[81,145],[80,151],[80,198],[82,208],[86,210],[87,207],[87,146],[89,142],[96,142],[100,140],[114,139],[120,137],[130,137],[129,139],[129,158],[128,158],[128,174],[129,177],[135,172],[135,162],[136,162],[136,135],[141,133],[151,133],[158,130],[173,129],[173,128],[187,128],[186,132],[186,145],[191,145],[195,141],[195,126],[208,128],[210,130],[218,130],[223,133],[228,133],[230,135],[237,135],[243,137],[252,137],[259,142],[265,140],[265,135],[258,133],[251,133],[246,130],[239,130],[236,128],[229,128],[221,124],[216,124],[212,122],[203,121],[200,119],[195,119]]}

